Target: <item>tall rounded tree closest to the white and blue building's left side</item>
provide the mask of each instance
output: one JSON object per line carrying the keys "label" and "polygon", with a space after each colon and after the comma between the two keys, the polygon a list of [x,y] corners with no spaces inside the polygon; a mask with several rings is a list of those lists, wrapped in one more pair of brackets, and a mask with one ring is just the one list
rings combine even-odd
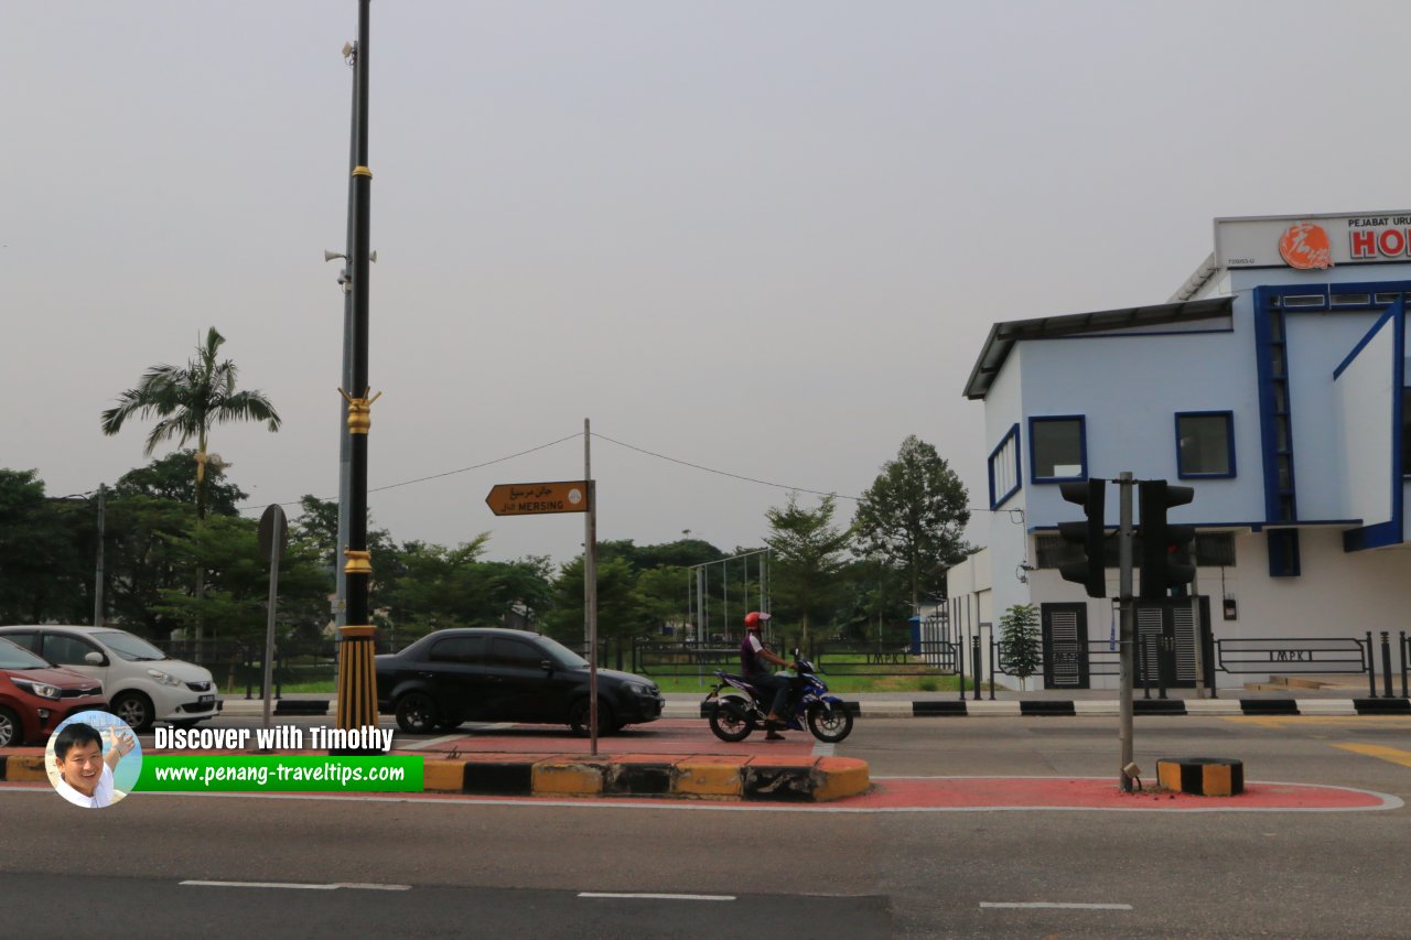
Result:
{"label": "tall rounded tree closest to the white and blue building's left side", "polygon": [[961,538],[969,522],[969,494],[950,464],[916,435],[902,442],[895,460],[858,500],[852,519],[865,550],[906,572],[912,610],[923,586],[938,583],[944,567],[965,558]]}

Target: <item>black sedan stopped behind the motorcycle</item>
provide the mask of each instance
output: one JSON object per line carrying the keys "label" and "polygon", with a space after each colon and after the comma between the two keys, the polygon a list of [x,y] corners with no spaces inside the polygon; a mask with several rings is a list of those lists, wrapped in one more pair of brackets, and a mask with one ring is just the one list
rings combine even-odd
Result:
{"label": "black sedan stopped behind the motorcycle", "polygon": [[[662,716],[660,690],[629,672],[598,669],[598,733]],[[588,661],[521,629],[439,629],[377,658],[377,706],[406,733],[463,721],[588,728]]]}

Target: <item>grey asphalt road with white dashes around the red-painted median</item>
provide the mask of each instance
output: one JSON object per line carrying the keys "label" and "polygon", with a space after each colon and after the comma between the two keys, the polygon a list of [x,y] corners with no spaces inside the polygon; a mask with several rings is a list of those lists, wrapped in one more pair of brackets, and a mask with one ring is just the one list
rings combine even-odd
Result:
{"label": "grey asphalt road with white dashes around the red-painted median", "polygon": [[[1411,803],[1407,718],[1140,718],[1136,731],[1143,765],[1236,757],[1253,781]],[[838,752],[873,776],[1115,779],[1118,740],[1108,718],[868,720]],[[82,826],[76,812],[0,789],[0,910],[11,924],[34,912],[24,936],[1411,933],[1407,807],[847,814],[138,793]],[[332,884],[377,888],[306,886]]]}

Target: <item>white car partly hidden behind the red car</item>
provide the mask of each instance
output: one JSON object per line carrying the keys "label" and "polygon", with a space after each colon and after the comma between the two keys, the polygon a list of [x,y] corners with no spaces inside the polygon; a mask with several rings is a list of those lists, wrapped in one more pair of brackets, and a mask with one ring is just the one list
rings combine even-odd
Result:
{"label": "white car partly hidden behind the red car", "polygon": [[0,627],[0,637],[100,680],[109,709],[135,731],[150,731],[154,721],[189,727],[220,714],[210,670],[169,659],[126,629],[45,624]]}

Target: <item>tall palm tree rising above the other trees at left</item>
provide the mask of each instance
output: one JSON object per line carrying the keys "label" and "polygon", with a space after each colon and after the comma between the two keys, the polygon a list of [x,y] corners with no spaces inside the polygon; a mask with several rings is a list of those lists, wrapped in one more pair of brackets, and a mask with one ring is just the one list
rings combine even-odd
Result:
{"label": "tall palm tree rising above the other trees at left", "polygon": [[226,337],[214,326],[206,333],[206,343],[196,347],[196,358],[185,368],[154,366],[147,370],[137,388],[119,395],[117,406],[103,412],[103,433],[116,435],[123,422],[137,415],[157,415],[158,421],[147,435],[145,456],[152,456],[157,445],[176,439],[183,447],[196,439],[196,518],[206,518],[206,439],[213,425],[227,421],[264,421],[270,430],[279,430],[279,414],[260,391],[236,391],[237,368],[229,358],[217,363],[216,353]]}

